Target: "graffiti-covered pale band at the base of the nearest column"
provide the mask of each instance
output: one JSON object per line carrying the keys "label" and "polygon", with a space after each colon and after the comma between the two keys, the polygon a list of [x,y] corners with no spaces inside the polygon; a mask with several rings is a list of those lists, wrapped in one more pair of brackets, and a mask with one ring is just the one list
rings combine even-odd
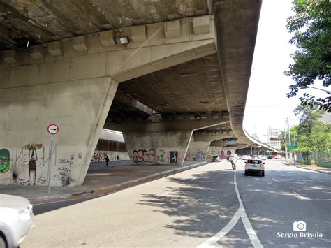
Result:
{"label": "graffiti-covered pale band at the base of the nearest column", "polygon": [[[47,184],[49,154],[50,149],[37,143],[29,143],[22,148],[0,149],[0,184]],[[82,159],[82,153],[67,153],[59,157],[57,147],[54,147],[51,184],[66,186],[78,183],[75,177],[76,158]]]}

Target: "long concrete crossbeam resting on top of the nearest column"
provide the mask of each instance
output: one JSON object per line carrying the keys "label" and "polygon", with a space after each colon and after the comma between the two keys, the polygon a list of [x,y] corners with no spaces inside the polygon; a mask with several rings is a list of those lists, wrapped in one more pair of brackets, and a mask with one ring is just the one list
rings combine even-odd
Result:
{"label": "long concrete crossbeam resting on top of the nearest column", "polygon": [[[215,53],[214,26],[210,27],[210,34],[195,35],[190,29],[191,22],[191,18],[179,20],[184,31],[177,38],[165,38],[162,22],[148,24],[148,37],[143,45],[103,46],[101,34],[96,34],[75,37],[72,43],[61,43],[61,56],[46,53],[45,58],[38,61],[22,50],[17,52],[17,66],[0,61],[0,81],[8,82],[0,85],[0,89],[40,85],[45,80],[53,83],[105,76],[123,82]],[[123,28],[121,36],[131,38],[131,28],[134,27]]]}

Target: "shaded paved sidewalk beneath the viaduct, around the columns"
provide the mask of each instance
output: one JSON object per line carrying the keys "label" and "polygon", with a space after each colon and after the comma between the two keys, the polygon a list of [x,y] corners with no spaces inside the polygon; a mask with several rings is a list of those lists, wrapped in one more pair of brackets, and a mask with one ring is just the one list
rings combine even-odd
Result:
{"label": "shaded paved sidewalk beneath the viaduct, around the columns", "polygon": [[208,163],[208,161],[185,162],[184,166],[138,166],[132,164],[130,161],[119,161],[110,162],[108,167],[105,166],[105,163],[91,163],[84,183],[81,186],[51,187],[50,194],[48,194],[48,188],[44,186],[11,184],[0,185],[0,192],[1,194],[23,196],[28,198],[31,203],[41,203],[87,195],[97,196],[202,166],[206,163]]}

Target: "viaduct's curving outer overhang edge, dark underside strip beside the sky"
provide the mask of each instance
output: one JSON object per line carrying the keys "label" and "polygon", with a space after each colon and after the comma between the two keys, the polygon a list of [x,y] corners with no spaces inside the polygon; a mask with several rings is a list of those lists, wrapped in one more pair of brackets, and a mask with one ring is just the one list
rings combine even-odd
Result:
{"label": "viaduct's curving outer overhang edge, dark underside strip beside the sky", "polygon": [[[216,0],[208,4],[212,7],[215,18],[217,54],[231,115],[231,127],[237,138],[250,145],[254,143],[245,136],[242,124],[261,4],[262,0]],[[244,20],[245,24],[238,20]]]}

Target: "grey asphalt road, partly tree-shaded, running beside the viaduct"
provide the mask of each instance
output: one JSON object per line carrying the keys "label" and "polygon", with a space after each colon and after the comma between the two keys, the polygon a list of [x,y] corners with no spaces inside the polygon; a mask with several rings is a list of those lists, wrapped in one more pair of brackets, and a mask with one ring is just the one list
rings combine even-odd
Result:
{"label": "grey asphalt road, partly tree-shaded, running beside the viaduct", "polygon": [[[44,213],[22,247],[331,247],[331,175],[265,167],[265,177],[244,176],[243,161],[236,171],[209,163],[82,203],[35,205]],[[306,231],[293,231],[297,221]]]}

